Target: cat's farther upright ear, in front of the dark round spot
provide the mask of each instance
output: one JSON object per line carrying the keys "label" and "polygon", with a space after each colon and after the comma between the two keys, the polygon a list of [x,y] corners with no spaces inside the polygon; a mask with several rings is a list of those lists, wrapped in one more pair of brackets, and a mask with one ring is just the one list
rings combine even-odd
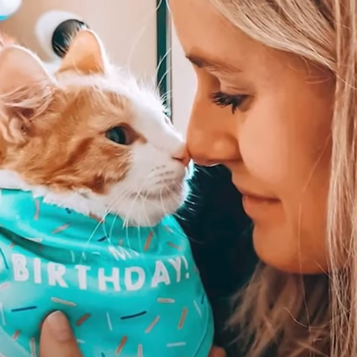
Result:
{"label": "cat's farther upright ear, in front of the dark round spot", "polygon": [[71,42],[58,72],[105,74],[108,59],[99,37],[90,30],[80,30]]}

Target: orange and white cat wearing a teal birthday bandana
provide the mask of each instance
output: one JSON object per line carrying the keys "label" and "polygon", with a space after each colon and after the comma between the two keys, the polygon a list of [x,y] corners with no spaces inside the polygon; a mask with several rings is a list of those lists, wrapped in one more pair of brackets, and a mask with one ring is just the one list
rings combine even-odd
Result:
{"label": "orange and white cat wearing a teal birthday bandana", "polygon": [[85,357],[208,356],[211,307],[170,216],[189,161],[160,97],[110,65],[94,32],[53,74],[5,44],[0,356],[37,356],[40,323],[59,309]]}

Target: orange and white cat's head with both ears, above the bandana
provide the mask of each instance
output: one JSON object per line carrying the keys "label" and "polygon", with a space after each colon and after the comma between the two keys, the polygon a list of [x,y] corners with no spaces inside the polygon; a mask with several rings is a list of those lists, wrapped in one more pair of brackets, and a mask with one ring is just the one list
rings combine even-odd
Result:
{"label": "orange and white cat's head with both ears, above the bandana", "polygon": [[160,99],[112,71],[91,32],[77,37],[55,77],[23,49],[0,53],[1,167],[152,225],[185,201],[185,145]]}

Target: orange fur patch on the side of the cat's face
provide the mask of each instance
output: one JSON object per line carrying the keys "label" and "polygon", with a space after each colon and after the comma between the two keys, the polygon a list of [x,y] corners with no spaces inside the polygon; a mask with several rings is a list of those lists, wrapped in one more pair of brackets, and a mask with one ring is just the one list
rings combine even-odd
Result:
{"label": "orange fur patch on the side of the cat's face", "polygon": [[129,103],[119,96],[113,102],[113,95],[86,87],[55,91],[46,110],[29,118],[31,139],[7,145],[2,168],[32,185],[105,193],[130,164],[129,148],[104,136],[111,127],[130,126]]}

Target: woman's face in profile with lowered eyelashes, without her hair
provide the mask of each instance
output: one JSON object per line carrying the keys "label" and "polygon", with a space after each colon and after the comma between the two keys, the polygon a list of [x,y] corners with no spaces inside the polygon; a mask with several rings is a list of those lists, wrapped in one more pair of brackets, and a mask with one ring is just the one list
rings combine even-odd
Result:
{"label": "woman's face in profile with lowered eyelashes, without her hair", "polygon": [[198,78],[190,154],[232,172],[264,262],[288,272],[326,270],[333,76],[250,39],[208,0],[170,6]]}

